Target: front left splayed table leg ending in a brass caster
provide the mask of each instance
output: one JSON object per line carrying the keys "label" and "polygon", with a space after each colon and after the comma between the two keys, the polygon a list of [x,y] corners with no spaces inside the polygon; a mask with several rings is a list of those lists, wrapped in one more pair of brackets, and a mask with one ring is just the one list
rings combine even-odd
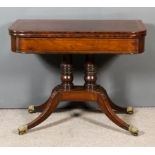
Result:
{"label": "front left splayed table leg ending in a brass caster", "polygon": [[28,129],[37,126],[38,124],[42,123],[45,119],[47,119],[49,115],[56,109],[59,99],[59,92],[54,92],[49,98],[46,108],[43,110],[43,112],[32,122],[18,128],[19,135],[26,133]]}

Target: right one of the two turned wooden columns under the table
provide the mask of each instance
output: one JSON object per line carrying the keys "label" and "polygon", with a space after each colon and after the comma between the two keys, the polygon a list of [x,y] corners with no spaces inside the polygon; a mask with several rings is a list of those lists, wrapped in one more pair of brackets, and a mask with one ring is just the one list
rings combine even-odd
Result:
{"label": "right one of the two turned wooden columns under the table", "polygon": [[88,90],[93,90],[96,87],[97,76],[96,76],[96,66],[94,64],[94,57],[92,55],[86,55],[84,68],[85,68],[84,86]]}

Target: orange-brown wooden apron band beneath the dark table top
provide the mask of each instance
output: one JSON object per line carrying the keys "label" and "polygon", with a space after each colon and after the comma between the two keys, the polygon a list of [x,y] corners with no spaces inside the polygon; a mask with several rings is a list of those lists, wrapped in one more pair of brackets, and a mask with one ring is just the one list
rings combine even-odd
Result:
{"label": "orange-brown wooden apron band beneath the dark table top", "polygon": [[104,38],[11,38],[12,50],[36,54],[134,54],[144,51],[144,37]]}

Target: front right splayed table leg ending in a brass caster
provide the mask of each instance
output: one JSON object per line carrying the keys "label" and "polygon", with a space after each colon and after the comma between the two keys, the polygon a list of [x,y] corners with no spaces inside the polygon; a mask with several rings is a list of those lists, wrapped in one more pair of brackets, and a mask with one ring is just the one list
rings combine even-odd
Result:
{"label": "front right splayed table leg ending in a brass caster", "polygon": [[138,135],[138,129],[133,127],[132,125],[127,124],[122,119],[120,119],[112,110],[109,99],[106,95],[98,94],[98,104],[101,107],[101,110],[105,112],[107,117],[112,120],[119,127],[128,130],[133,135]]}

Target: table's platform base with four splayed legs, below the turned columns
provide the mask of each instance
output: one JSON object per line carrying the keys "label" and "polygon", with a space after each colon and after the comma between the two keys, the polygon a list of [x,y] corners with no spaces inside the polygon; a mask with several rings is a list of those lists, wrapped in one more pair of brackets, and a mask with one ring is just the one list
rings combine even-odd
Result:
{"label": "table's platform base with four splayed legs, below the turned columns", "polygon": [[[101,110],[106,114],[106,116],[113,121],[119,127],[130,131],[133,135],[138,134],[138,130],[132,127],[131,125],[124,122],[120,119],[116,113],[113,111],[124,112],[131,114],[131,111],[128,111],[128,108],[123,108],[115,105],[110,98],[108,97],[106,91],[101,86],[96,86],[94,90],[88,90],[84,86],[73,86],[69,91],[66,91],[62,88],[61,85],[57,86],[48,101],[39,105],[39,106],[30,106],[28,111],[32,112],[41,112],[41,114],[33,120],[31,123],[24,125],[26,128],[20,127],[18,129],[19,134],[24,134],[27,130],[37,126],[47,119],[50,114],[56,109],[60,101],[94,101],[99,104]],[[25,129],[25,130],[24,130]]]}

